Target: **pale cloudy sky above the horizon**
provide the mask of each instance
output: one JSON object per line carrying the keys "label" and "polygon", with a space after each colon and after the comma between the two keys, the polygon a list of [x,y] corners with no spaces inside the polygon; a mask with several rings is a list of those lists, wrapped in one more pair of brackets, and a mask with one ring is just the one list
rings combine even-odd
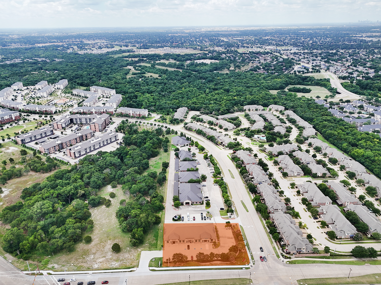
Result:
{"label": "pale cloudy sky above the horizon", "polygon": [[0,0],[0,29],[381,21],[381,0]]}

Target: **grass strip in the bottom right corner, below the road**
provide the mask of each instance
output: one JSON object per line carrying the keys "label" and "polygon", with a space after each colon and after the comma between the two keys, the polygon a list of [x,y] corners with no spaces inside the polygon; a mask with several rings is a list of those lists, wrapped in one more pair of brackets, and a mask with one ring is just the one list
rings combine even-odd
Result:
{"label": "grass strip in the bottom right corner, below the road", "polygon": [[299,279],[298,284],[308,285],[336,285],[336,284],[380,284],[381,274],[367,274],[354,277],[333,277]]}

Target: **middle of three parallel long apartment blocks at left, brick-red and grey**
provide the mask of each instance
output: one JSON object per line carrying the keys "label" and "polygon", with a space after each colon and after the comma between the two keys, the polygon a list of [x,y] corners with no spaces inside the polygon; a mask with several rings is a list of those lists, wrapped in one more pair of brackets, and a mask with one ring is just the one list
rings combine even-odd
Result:
{"label": "middle of three parallel long apartment blocks at left, brick-red and grey", "polygon": [[39,146],[39,150],[41,153],[52,154],[74,144],[89,140],[91,139],[92,134],[92,130],[84,129],[79,132],[58,138],[57,140],[53,140],[52,142],[43,143]]}

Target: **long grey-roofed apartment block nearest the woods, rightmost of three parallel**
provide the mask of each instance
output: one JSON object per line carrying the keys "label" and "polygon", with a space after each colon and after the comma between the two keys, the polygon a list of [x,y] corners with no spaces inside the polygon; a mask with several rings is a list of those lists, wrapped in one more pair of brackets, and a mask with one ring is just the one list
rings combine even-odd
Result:
{"label": "long grey-roofed apartment block nearest the woods, rightmost of three parallel", "polygon": [[114,132],[106,133],[102,136],[92,138],[91,140],[87,140],[81,143],[77,143],[75,146],[70,147],[66,150],[66,153],[69,158],[76,159],[87,154],[96,151],[105,145],[110,143],[114,143],[118,141],[118,134]]}

